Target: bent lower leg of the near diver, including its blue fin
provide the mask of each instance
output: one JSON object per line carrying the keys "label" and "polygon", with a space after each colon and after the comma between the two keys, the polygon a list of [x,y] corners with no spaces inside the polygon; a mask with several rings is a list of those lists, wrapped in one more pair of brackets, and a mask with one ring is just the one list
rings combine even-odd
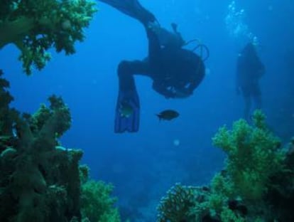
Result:
{"label": "bent lower leg of the near diver, including its blue fin", "polygon": [[119,95],[116,102],[114,132],[137,132],[140,119],[140,101],[134,75],[148,75],[148,63],[122,61],[117,70]]}

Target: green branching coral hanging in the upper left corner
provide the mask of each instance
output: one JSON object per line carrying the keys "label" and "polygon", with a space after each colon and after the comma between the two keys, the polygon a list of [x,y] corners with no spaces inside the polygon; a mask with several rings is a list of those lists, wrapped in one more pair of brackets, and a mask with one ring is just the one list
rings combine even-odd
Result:
{"label": "green branching coral hanging in the upper left corner", "polygon": [[1,1],[0,49],[13,43],[21,51],[23,70],[32,65],[42,69],[50,60],[48,49],[75,53],[76,41],[83,41],[83,28],[97,11],[88,0]]}

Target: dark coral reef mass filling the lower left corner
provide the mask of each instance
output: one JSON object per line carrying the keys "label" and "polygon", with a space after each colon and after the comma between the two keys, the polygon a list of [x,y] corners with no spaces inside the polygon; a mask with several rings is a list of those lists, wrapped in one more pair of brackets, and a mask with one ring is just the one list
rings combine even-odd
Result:
{"label": "dark coral reef mass filling the lower left corner", "polygon": [[[58,139],[70,128],[70,110],[55,95],[33,115],[9,107],[13,97],[0,72],[0,221],[119,221],[111,186],[88,182],[79,166],[82,150],[65,149]],[[85,200],[88,200],[85,203]],[[91,214],[89,209],[99,206]],[[83,215],[82,215],[82,213]],[[99,217],[98,217],[99,216]]]}

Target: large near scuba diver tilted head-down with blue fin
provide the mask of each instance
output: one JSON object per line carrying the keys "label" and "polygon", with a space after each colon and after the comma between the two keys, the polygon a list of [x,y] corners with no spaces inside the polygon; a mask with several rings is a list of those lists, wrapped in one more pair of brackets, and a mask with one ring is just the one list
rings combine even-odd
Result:
{"label": "large near scuba diver tilted head-down with blue fin", "polygon": [[[192,95],[205,76],[200,56],[182,48],[186,45],[177,25],[173,32],[161,28],[156,17],[136,0],[99,0],[140,21],[148,37],[148,56],[143,60],[119,63],[119,95],[116,103],[114,132],[137,132],[140,102],[134,75],[153,80],[153,90],[165,98],[184,98]],[[204,46],[204,45],[203,45]],[[196,47],[197,48],[197,47]],[[205,46],[205,50],[207,50]],[[208,51],[207,51],[208,57]]]}

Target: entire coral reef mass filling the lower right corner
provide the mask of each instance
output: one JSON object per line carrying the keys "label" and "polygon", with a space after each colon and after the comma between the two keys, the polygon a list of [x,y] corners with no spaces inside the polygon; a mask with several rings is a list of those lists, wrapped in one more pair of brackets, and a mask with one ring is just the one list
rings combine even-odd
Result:
{"label": "entire coral reef mass filling the lower right corner", "polygon": [[253,125],[234,122],[212,138],[227,153],[209,186],[177,184],[160,201],[158,221],[293,221],[294,139],[288,147],[254,112]]}

